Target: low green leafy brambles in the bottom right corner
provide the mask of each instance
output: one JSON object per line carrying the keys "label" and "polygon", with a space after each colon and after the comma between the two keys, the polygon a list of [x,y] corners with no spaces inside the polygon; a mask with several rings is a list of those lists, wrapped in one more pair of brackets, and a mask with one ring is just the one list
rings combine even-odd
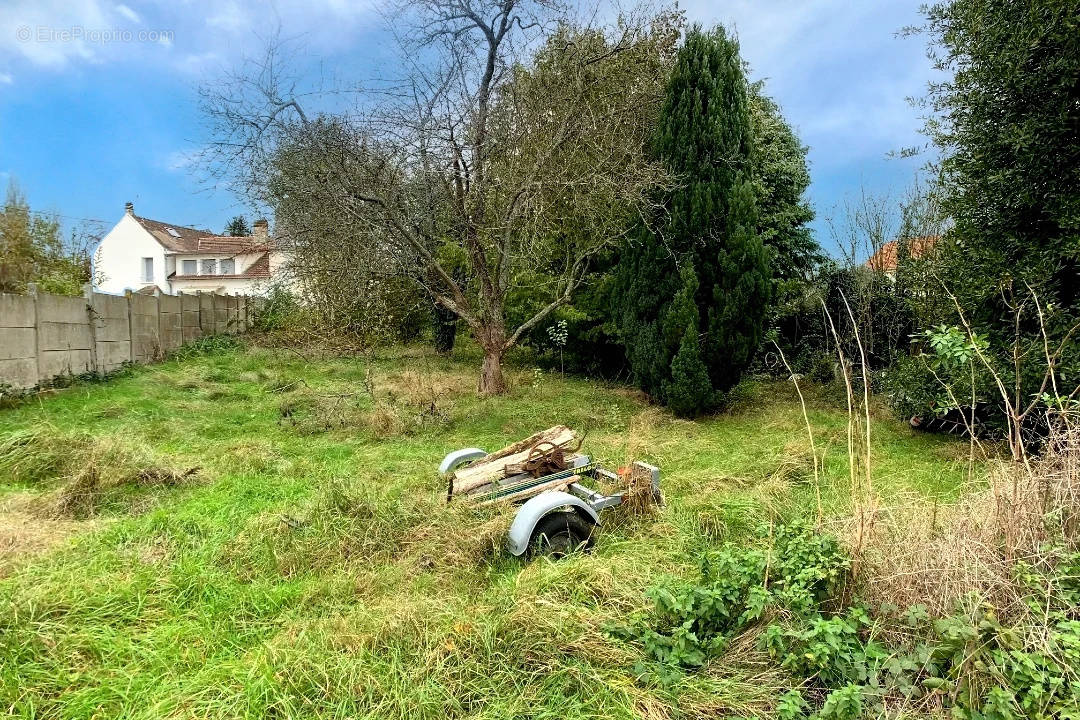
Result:
{"label": "low green leafy brambles in the bottom right corner", "polygon": [[642,677],[675,687],[768,621],[758,642],[796,683],[777,703],[781,720],[880,717],[896,704],[959,720],[1080,718],[1080,553],[1018,565],[1031,614],[1004,626],[977,598],[939,619],[921,606],[842,607],[850,558],[836,539],[804,522],[758,535],[765,547],[706,553],[696,581],[649,590],[648,617],[607,628],[639,643]]}

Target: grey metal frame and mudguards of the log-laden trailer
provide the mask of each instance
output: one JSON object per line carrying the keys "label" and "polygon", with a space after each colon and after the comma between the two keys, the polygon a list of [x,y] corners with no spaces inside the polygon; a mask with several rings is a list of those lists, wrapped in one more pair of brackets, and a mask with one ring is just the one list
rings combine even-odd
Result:
{"label": "grey metal frame and mudguards of the log-laden trailer", "polygon": [[[486,456],[487,453],[480,448],[463,448],[461,450],[455,450],[443,458],[443,462],[438,465],[438,473],[440,475],[445,475],[446,473],[450,473],[468,462],[480,460]],[[640,465],[649,472],[652,477],[652,493],[659,498],[660,468],[642,462],[635,464]],[[567,470],[552,473],[551,475],[544,475],[543,477],[529,478],[528,480],[514,485],[505,490],[502,490],[501,492],[510,493],[518,491],[523,486],[542,485],[544,483],[550,483],[565,477],[572,477],[575,475],[594,478],[603,477],[612,481],[620,480],[616,473],[593,463],[589,456],[580,456],[573,459],[572,464]],[[488,495],[483,497],[495,501],[499,499],[499,492],[500,490],[497,489]],[[625,500],[625,497],[624,492],[606,495],[603,492],[593,490],[592,488],[582,485],[581,483],[571,483],[567,487],[566,491],[546,490],[540,494],[532,495],[517,508],[514,521],[511,524],[510,531],[507,533],[507,547],[511,555],[518,557],[524,555],[529,548],[529,544],[532,542],[532,533],[536,530],[537,525],[539,525],[544,517],[551,515],[552,513],[577,513],[581,519],[585,520],[590,525],[598,527],[603,524],[600,520],[600,512],[607,510],[608,507],[621,505]]]}

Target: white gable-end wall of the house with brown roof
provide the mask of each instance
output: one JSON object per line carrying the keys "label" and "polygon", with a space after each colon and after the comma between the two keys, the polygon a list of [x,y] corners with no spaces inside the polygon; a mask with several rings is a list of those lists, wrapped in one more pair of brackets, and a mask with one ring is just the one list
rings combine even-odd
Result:
{"label": "white gable-end wall of the house with brown roof", "polygon": [[[144,258],[153,263],[149,281],[143,275]],[[148,285],[168,293],[166,272],[165,248],[131,215],[124,215],[94,252],[94,289],[98,293],[120,295]]]}

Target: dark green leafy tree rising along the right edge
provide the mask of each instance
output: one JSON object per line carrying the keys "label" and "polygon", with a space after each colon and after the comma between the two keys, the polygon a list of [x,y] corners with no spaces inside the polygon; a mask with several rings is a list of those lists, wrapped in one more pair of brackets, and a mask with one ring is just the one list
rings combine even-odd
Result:
{"label": "dark green leafy tree rising along the right edge", "polygon": [[927,131],[954,222],[929,290],[956,299],[941,322],[1010,358],[995,368],[1009,403],[993,385],[977,398],[1003,413],[1045,389],[1048,361],[1069,389],[1080,373],[1080,14],[1072,0],[950,0],[921,30],[948,73]]}

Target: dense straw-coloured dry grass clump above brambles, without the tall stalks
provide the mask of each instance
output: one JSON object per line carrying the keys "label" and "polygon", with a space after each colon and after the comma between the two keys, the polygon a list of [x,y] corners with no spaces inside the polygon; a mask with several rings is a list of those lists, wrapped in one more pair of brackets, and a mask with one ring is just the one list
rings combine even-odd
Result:
{"label": "dense straw-coloured dry grass clump above brambles, without the tall stalks", "polygon": [[974,596],[1003,620],[1027,612],[1017,570],[1080,547],[1080,430],[1069,420],[1053,422],[1045,452],[1028,463],[990,461],[987,487],[955,505],[880,508],[863,548],[863,597],[944,615]]}

